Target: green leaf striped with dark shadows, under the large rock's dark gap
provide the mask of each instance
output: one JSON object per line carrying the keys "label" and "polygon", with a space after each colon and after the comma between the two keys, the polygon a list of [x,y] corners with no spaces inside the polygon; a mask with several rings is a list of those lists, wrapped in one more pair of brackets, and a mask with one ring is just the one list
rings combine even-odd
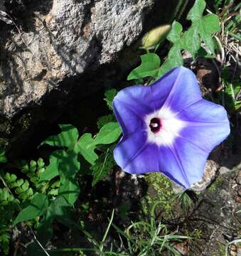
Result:
{"label": "green leaf striped with dark shadows, under the large rock's dark gap", "polygon": [[60,129],[62,130],[60,134],[48,137],[48,139],[45,139],[41,145],[48,144],[50,146],[61,146],[74,149],[77,138],[79,137],[77,129],[71,124],[60,124]]}

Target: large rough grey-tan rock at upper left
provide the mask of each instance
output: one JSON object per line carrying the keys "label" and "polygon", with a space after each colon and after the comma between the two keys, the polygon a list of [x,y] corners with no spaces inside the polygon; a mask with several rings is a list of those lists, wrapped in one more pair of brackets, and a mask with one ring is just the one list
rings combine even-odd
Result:
{"label": "large rough grey-tan rock at upper left", "polygon": [[30,103],[41,102],[65,78],[111,63],[140,36],[144,14],[154,1],[36,2],[28,30],[0,39],[1,114],[11,118]]}

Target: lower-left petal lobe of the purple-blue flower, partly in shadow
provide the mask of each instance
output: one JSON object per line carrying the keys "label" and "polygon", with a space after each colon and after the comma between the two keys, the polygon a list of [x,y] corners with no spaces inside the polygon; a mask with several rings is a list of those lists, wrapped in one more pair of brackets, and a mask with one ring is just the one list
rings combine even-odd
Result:
{"label": "lower-left petal lobe of the purple-blue flower, partly in shadow", "polygon": [[114,160],[129,174],[159,171],[158,146],[146,143],[146,134],[136,132],[122,139],[114,149]]}

